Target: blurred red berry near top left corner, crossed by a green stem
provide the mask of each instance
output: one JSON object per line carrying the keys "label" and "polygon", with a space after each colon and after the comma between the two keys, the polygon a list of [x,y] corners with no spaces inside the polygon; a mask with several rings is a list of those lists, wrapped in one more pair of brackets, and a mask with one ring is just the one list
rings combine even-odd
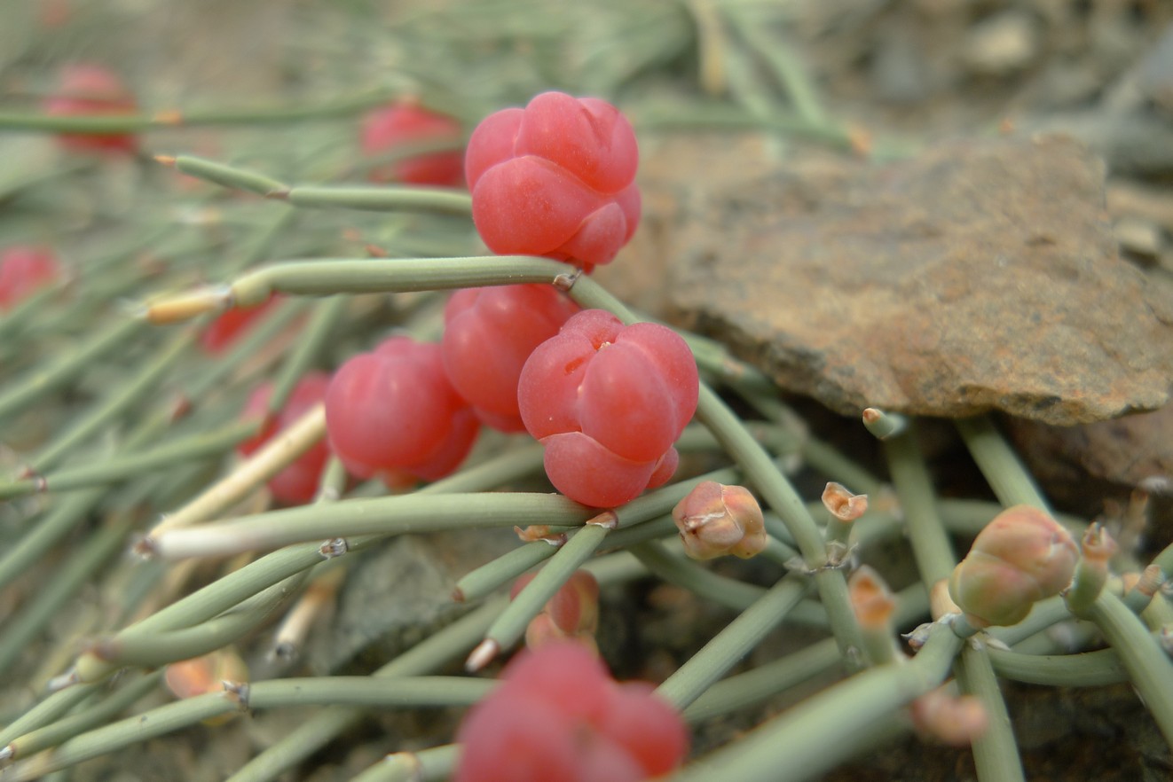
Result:
{"label": "blurred red berry near top left corner, crossed by a green stem", "polygon": [[[45,111],[55,116],[135,114],[134,95],[122,81],[96,64],[67,66],[61,72],[57,94],[45,101]],[[62,147],[80,152],[128,152],[138,141],[128,132],[62,132]]]}

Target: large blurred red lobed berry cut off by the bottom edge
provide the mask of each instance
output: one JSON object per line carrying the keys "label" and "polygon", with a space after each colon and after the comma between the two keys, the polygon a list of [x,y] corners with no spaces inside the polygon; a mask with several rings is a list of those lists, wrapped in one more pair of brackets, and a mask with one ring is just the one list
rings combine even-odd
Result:
{"label": "large blurred red lobed berry cut off by the bottom edge", "polygon": [[679,714],[651,685],[616,684],[577,644],[522,652],[461,723],[455,782],[637,782],[689,749]]}

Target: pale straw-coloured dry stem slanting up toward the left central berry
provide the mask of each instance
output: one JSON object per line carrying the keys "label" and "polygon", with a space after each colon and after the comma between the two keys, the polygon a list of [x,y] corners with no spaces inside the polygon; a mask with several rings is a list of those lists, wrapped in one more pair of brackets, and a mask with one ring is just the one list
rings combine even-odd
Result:
{"label": "pale straw-coloured dry stem slanting up toward the left central berry", "polygon": [[260,450],[245,460],[237,469],[202,495],[163,518],[151,528],[149,536],[156,538],[168,530],[179,530],[205,522],[224,512],[244,499],[249,492],[269,481],[298,456],[313,447],[326,434],[326,410],[316,404],[306,410],[292,426],[287,427]]}

